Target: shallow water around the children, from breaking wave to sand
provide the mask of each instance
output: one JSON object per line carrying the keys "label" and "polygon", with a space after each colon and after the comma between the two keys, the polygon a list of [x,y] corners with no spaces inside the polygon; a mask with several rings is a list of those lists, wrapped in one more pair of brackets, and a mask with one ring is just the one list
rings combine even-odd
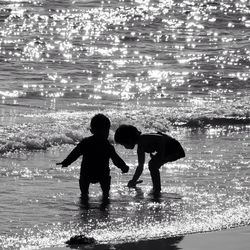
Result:
{"label": "shallow water around the children, from breaking wave to sand", "polygon": [[131,171],[122,175],[112,166],[111,201],[106,207],[98,185],[91,186],[89,208],[81,203],[79,161],[67,169],[55,166],[73,145],[7,153],[1,160],[3,249],[61,246],[76,234],[114,244],[247,225],[248,133],[239,126],[172,130],[187,157],[162,168],[159,200],[149,194],[147,167],[137,190],[126,187],[136,152],[118,146]]}

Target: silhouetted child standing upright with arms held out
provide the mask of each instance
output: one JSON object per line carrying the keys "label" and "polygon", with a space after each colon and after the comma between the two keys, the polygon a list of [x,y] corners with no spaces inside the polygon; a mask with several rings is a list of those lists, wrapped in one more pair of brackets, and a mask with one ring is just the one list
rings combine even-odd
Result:
{"label": "silhouetted child standing upright with arms held out", "polygon": [[97,114],[92,118],[90,127],[93,135],[84,138],[67,158],[57,163],[57,165],[67,167],[79,156],[83,155],[79,180],[82,198],[88,198],[90,183],[99,182],[103,192],[103,199],[108,199],[111,181],[109,159],[123,173],[127,173],[129,167],[108,141],[110,120],[103,114]]}

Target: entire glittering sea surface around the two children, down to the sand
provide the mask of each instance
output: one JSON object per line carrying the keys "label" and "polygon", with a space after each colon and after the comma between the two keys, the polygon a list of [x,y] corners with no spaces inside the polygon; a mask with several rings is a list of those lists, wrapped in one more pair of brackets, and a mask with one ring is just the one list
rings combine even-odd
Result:
{"label": "entire glittering sea surface around the two children, down to the sand", "polygon": [[[184,236],[250,224],[250,2],[0,0],[0,249]],[[80,159],[56,166],[96,113],[178,139],[161,169],[111,164],[111,201],[78,187]]]}

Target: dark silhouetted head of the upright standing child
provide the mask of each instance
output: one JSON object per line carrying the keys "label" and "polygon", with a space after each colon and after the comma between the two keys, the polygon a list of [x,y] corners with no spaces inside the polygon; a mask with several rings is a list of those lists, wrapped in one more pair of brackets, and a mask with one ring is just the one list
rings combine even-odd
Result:
{"label": "dark silhouetted head of the upright standing child", "polygon": [[97,114],[91,119],[90,131],[94,135],[100,135],[108,138],[110,125],[110,120],[107,116]]}

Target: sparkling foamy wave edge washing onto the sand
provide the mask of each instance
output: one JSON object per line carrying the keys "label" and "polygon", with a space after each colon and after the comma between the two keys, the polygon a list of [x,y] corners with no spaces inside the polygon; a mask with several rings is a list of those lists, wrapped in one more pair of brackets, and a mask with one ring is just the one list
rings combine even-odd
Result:
{"label": "sparkling foamy wave edge washing onto the sand", "polygon": [[[172,222],[145,220],[141,225],[137,225],[137,221],[129,218],[120,218],[119,223],[102,222],[86,235],[93,237],[97,245],[111,245],[114,248],[120,244],[138,244],[138,242],[166,238],[175,239],[177,243],[188,234],[213,232],[249,224],[248,207],[241,207],[237,213],[235,209],[229,209],[221,214],[211,210],[210,212],[200,211],[197,214],[189,213],[186,216],[182,221],[179,219]],[[242,218],[245,218],[244,221]],[[47,225],[43,230],[36,226],[26,229],[23,235],[0,236],[0,242],[4,249],[62,247],[65,246],[65,239],[69,239],[72,235],[83,234],[85,231],[86,225],[82,228],[72,222],[68,225],[55,222],[53,225]]]}

